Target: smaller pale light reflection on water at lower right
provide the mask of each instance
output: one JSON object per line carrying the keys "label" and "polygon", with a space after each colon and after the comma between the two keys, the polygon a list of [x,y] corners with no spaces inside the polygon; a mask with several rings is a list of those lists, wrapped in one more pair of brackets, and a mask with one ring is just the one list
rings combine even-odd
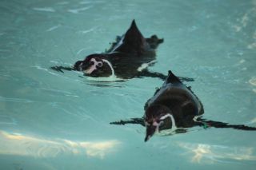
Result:
{"label": "smaller pale light reflection on water at lower right", "polygon": [[253,147],[228,147],[210,144],[179,143],[181,148],[188,150],[192,155],[191,162],[214,163],[227,160],[256,160]]}

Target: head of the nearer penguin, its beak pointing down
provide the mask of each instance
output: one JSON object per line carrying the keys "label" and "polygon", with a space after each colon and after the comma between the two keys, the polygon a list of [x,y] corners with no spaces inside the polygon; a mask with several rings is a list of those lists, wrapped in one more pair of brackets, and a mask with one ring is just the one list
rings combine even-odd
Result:
{"label": "head of the nearer penguin, its beak pointing down", "polygon": [[147,108],[144,121],[146,126],[145,142],[149,140],[155,132],[160,132],[175,126],[172,112],[165,105],[151,105]]}

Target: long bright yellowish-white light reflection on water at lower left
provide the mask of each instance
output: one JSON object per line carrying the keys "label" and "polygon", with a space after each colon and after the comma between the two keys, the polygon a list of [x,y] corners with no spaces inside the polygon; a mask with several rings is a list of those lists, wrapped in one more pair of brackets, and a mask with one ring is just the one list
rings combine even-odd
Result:
{"label": "long bright yellowish-white light reflection on water at lower left", "polygon": [[62,154],[86,155],[103,159],[117,150],[118,140],[74,141],[43,139],[0,130],[0,154],[15,156],[55,157]]}

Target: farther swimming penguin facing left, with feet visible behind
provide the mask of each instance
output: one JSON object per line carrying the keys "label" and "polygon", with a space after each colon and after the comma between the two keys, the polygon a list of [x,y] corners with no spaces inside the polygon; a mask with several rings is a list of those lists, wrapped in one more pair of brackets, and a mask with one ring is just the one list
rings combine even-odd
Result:
{"label": "farther swimming penguin facing left, with feet visible behind", "polygon": [[[166,79],[162,73],[152,73],[147,68],[154,65],[158,45],[162,38],[152,35],[144,38],[133,20],[130,28],[122,37],[118,37],[106,53],[94,53],[77,61],[73,67],[53,66],[51,69],[82,71],[89,77],[116,76],[122,79],[133,77],[159,77]],[[182,81],[193,81],[191,78],[181,77]]]}

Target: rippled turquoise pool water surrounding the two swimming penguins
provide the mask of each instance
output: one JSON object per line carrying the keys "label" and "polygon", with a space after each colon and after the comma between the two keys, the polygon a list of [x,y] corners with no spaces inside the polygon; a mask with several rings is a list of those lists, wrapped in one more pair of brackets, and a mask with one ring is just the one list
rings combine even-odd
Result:
{"label": "rippled turquoise pool water surrounding the two swimming penguins", "polygon": [[254,169],[256,132],[192,128],[144,142],[157,78],[98,82],[58,73],[110,47],[132,19],[158,34],[151,71],[194,77],[204,117],[256,126],[256,1],[0,2],[0,169]]}

